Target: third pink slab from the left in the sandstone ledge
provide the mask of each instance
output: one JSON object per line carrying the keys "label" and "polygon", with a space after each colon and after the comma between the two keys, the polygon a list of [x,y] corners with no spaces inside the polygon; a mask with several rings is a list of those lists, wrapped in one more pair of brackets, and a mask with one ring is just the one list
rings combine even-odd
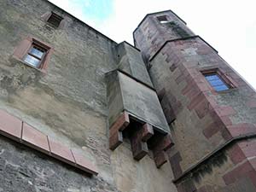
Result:
{"label": "third pink slab from the left in the sandstone ledge", "polygon": [[50,153],[58,160],[62,160],[67,163],[75,163],[73,159],[73,154],[70,148],[62,145],[61,143],[54,142],[51,138],[49,138],[49,149]]}

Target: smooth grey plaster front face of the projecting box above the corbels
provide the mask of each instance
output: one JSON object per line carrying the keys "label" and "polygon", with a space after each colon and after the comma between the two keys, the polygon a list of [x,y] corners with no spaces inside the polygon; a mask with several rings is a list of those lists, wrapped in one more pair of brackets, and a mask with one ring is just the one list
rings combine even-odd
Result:
{"label": "smooth grey plaster front face of the projecting box above the corbels", "polygon": [[124,108],[135,117],[148,122],[163,133],[169,132],[165,114],[154,90],[119,73],[119,84],[122,91]]}

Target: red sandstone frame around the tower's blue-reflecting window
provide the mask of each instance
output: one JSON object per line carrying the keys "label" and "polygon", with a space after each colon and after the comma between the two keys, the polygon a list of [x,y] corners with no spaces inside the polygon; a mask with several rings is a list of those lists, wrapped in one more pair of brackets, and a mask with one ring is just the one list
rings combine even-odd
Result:
{"label": "red sandstone frame around the tower's blue-reflecting window", "polygon": [[[204,79],[207,81],[207,84],[209,84],[212,87],[212,90],[216,92],[226,92],[229,90],[233,90],[236,88],[235,84],[224,74],[222,73],[218,68],[212,68],[201,71],[202,75],[204,76]],[[209,80],[206,78],[210,75],[217,75],[218,79],[223,82],[224,85],[227,86],[227,90],[216,90],[216,88],[209,82]]]}

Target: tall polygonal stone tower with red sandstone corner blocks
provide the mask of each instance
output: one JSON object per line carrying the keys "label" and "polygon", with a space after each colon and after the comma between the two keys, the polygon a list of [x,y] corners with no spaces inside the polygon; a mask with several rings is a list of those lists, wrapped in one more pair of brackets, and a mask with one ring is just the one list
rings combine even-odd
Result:
{"label": "tall polygonal stone tower with red sandstone corner blocks", "polygon": [[[248,152],[256,131],[254,90],[202,38],[193,33],[169,36],[176,30],[170,26],[173,21],[182,27],[180,32],[191,32],[183,20],[160,23],[159,15],[173,14],[147,15],[134,36],[172,131],[175,148],[169,156],[177,189],[254,191],[255,170],[250,163],[254,153]],[[154,24],[150,26],[148,20]],[[163,46],[146,38],[148,34]],[[229,90],[216,91],[207,82],[204,74],[217,72]],[[247,141],[247,137],[252,138]],[[249,147],[241,147],[238,141]]]}

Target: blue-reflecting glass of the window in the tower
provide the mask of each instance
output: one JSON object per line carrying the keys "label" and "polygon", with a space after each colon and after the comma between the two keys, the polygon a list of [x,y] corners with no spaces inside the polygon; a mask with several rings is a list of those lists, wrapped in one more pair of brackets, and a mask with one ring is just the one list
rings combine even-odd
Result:
{"label": "blue-reflecting glass of the window in the tower", "polygon": [[212,85],[214,90],[230,90],[229,84],[226,84],[223,79],[218,75],[218,73],[208,73],[204,74],[209,84]]}

